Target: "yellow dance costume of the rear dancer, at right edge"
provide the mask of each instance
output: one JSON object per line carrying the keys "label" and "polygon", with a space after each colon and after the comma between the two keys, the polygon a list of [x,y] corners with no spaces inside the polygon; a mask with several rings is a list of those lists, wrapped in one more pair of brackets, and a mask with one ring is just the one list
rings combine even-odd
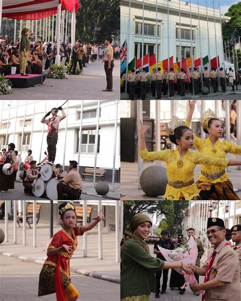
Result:
{"label": "yellow dance costume of the rear dancer, at right edge", "polygon": [[[186,125],[190,127],[190,123],[186,121]],[[205,140],[194,135],[193,146],[199,153],[215,158],[226,158],[226,154],[241,155],[241,145],[235,145],[227,141],[218,140],[213,147],[209,137]],[[233,191],[232,183],[228,177],[227,172],[222,166],[209,166],[201,164],[201,173],[197,179],[197,187],[199,192],[201,190],[209,190],[212,185],[215,186],[217,195],[214,199],[219,200],[239,200],[238,196]],[[213,199],[213,198],[212,198]]]}

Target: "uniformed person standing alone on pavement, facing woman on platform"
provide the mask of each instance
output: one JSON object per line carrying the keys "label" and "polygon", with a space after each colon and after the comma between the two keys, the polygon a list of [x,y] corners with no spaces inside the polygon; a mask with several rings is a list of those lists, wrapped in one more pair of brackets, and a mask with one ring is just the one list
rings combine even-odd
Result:
{"label": "uniformed person standing alone on pavement, facing woman on platform", "polygon": [[112,78],[112,71],[114,68],[114,61],[113,61],[113,47],[111,46],[113,39],[111,37],[105,38],[105,45],[107,47],[104,51],[104,62],[105,62],[105,74],[106,74],[106,89],[102,91],[111,92],[112,85],[113,85],[113,78]]}

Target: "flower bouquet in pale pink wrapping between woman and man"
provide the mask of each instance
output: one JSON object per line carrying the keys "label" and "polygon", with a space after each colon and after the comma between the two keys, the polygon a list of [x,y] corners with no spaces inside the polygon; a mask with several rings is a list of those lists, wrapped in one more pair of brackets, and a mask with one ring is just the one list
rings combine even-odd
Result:
{"label": "flower bouquet in pale pink wrapping between woman and man", "polygon": [[[158,246],[159,251],[162,253],[163,257],[166,259],[166,261],[173,262],[173,261],[180,261],[180,262],[187,262],[190,264],[195,265],[198,255],[197,250],[197,243],[193,236],[190,237],[188,240],[188,243],[183,245],[182,247],[179,247],[175,250],[167,250],[160,246]],[[182,287],[185,288],[187,286],[187,283],[194,283],[196,282],[196,278],[194,274],[187,274],[182,270],[181,268],[174,268],[177,273],[184,275],[185,278],[185,284]]]}

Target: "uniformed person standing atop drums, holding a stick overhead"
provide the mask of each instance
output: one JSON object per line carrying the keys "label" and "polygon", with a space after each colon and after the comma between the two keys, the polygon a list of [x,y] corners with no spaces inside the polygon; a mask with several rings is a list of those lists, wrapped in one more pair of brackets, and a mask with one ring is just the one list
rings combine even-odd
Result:
{"label": "uniformed person standing atop drums, holding a stick overhead", "polygon": [[[61,110],[62,116],[57,116],[58,110]],[[46,120],[52,114],[52,117]],[[54,163],[56,155],[56,144],[58,139],[58,125],[66,117],[65,111],[62,107],[52,108],[43,118],[41,119],[42,124],[47,124],[48,126],[48,135],[47,135],[47,144],[48,144],[48,160],[50,164]]]}

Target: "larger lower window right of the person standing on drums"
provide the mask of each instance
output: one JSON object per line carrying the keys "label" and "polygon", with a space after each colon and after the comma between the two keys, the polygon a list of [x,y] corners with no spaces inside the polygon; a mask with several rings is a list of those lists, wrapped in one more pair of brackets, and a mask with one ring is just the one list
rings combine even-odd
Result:
{"label": "larger lower window right of the person standing on drums", "polygon": [[[93,154],[95,150],[95,139],[96,139],[96,129],[82,130],[80,152]],[[78,151],[79,151],[79,131],[77,132],[76,153],[78,153]],[[100,129],[98,134],[97,153],[100,153]]]}

